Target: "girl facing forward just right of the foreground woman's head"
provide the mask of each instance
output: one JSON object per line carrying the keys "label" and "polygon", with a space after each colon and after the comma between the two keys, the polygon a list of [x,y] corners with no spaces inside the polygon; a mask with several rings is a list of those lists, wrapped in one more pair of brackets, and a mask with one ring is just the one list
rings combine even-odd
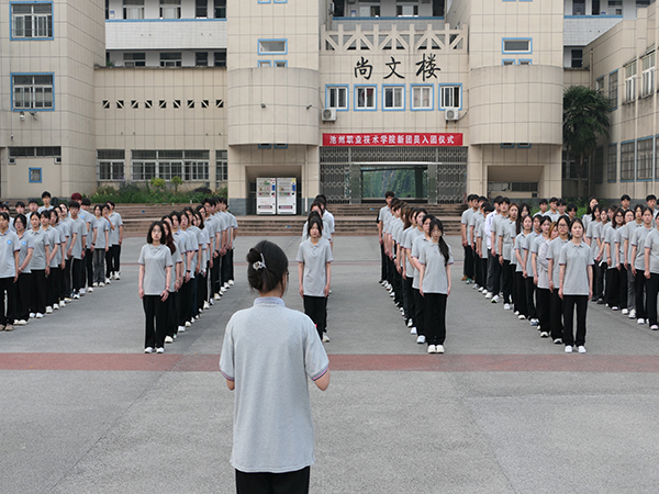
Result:
{"label": "girl facing forward just right of the foreground woman's head", "polygon": [[332,247],[323,238],[323,221],[310,214],[309,239],[298,248],[298,278],[300,295],[304,300],[304,314],[315,323],[319,337],[323,339],[326,326],[327,295],[332,277]]}

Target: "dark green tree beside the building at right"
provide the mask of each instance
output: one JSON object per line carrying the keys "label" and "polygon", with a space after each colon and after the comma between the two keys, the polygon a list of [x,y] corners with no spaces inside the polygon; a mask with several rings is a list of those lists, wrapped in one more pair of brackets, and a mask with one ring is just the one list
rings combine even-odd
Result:
{"label": "dark green tree beside the building at right", "polygon": [[608,137],[608,113],[613,105],[601,92],[584,86],[570,86],[563,92],[563,144],[577,160],[579,193],[584,193],[585,159],[591,156],[600,136]]}

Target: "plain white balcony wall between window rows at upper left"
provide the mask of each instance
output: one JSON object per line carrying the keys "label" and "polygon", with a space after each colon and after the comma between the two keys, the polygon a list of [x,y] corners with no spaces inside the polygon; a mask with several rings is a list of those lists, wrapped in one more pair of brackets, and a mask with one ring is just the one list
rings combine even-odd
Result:
{"label": "plain white balcony wall between window rows at upper left", "polygon": [[226,19],[105,21],[108,50],[226,48]]}

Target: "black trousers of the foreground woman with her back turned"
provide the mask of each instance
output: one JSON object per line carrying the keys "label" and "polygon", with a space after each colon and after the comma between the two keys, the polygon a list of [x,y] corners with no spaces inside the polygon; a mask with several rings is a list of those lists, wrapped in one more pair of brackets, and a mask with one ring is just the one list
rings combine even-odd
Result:
{"label": "black trousers of the foreground woman with her back turned", "polygon": [[284,473],[236,470],[236,491],[237,494],[309,494],[310,475],[310,467]]}

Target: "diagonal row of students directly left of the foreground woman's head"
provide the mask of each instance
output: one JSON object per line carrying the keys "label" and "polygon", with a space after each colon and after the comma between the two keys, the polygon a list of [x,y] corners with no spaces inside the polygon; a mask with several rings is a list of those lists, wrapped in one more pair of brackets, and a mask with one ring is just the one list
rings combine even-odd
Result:
{"label": "diagonal row of students directly left of the foreground woman's head", "polygon": [[237,223],[223,198],[174,211],[148,229],[138,258],[145,353],[164,353],[179,334],[234,285]]}

